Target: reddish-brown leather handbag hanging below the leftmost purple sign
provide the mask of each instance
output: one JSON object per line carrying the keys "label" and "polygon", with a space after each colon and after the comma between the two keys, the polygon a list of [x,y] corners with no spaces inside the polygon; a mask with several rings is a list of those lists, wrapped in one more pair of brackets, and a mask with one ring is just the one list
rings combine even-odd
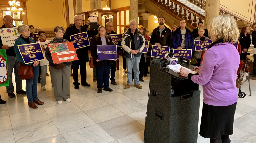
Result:
{"label": "reddish-brown leather handbag hanging below the leftmost purple sign", "polygon": [[30,65],[20,64],[18,75],[20,76],[20,79],[32,79],[34,78],[33,68]]}

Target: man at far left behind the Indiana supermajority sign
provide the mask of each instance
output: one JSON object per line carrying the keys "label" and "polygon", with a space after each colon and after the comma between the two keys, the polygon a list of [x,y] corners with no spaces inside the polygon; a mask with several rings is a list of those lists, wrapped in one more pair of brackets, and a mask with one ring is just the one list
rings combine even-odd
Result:
{"label": "man at far left behind the Indiana supermajority sign", "polygon": [[[5,15],[3,17],[3,21],[5,24],[0,28],[16,27],[13,25],[13,17],[11,15]],[[0,37],[0,49],[5,49],[7,53],[9,86],[6,86],[6,92],[8,93],[8,96],[11,98],[16,97],[16,95],[13,93],[14,92],[14,86],[12,83],[13,69],[14,69],[15,82],[16,82],[16,93],[26,94],[26,92],[22,89],[22,79],[20,79],[20,76],[18,75],[19,61],[16,57],[13,46],[3,45]]]}

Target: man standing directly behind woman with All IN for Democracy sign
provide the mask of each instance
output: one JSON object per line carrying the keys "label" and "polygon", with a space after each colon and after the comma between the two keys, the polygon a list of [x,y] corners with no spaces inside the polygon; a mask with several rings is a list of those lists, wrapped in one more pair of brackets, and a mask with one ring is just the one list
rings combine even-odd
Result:
{"label": "man standing directly behind woman with All IN for Democracy sign", "polygon": [[[113,23],[111,21],[106,23],[106,33],[107,33],[107,35],[116,34],[116,32],[113,31]],[[120,52],[120,47],[117,47],[117,54],[118,55],[119,55],[119,52]],[[118,55],[117,55],[117,57],[118,57]],[[117,60],[119,61],[119,59],[117,59]],[[112,64],[111,64],[111,68],[110,68],[110,83],[113,84],[113,85],[117,85],[116,79],[115,79],[116,62],[117,61],[112,60]],[[119,68],[117,70],[119,70]]]}

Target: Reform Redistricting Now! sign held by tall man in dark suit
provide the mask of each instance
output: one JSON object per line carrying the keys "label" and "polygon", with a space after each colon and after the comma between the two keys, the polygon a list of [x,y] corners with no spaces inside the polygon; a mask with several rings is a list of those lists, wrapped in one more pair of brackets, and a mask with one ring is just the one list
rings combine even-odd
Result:
{"label": "Reform Redistricting Now! sign held by tall man in dark suit", "polygon": [[90,46],[87,32],[71,35],[70,40],[74,43],[75,49]]}

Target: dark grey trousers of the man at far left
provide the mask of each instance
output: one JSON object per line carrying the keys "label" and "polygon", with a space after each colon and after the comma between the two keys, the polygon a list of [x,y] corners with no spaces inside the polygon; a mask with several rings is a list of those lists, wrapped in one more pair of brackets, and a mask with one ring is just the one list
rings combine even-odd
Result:
{"label": "dark grey trousers of the man at far left", "polygon": [[[7,68],[8,68],[8,80],[9,80],[9,86],[6,86],[6,92],[12,93],[14,91],[14,86],[12,83],[12,72],[14,69],[14,75],[15,75],[15,83],[16,83],[16,91],[22,90],[22,79],[20,79],[20,76],[18,75],[19,71],[19,63],[16,56],[7,56]],[[16,65],[17,64],[17,65]]]}

